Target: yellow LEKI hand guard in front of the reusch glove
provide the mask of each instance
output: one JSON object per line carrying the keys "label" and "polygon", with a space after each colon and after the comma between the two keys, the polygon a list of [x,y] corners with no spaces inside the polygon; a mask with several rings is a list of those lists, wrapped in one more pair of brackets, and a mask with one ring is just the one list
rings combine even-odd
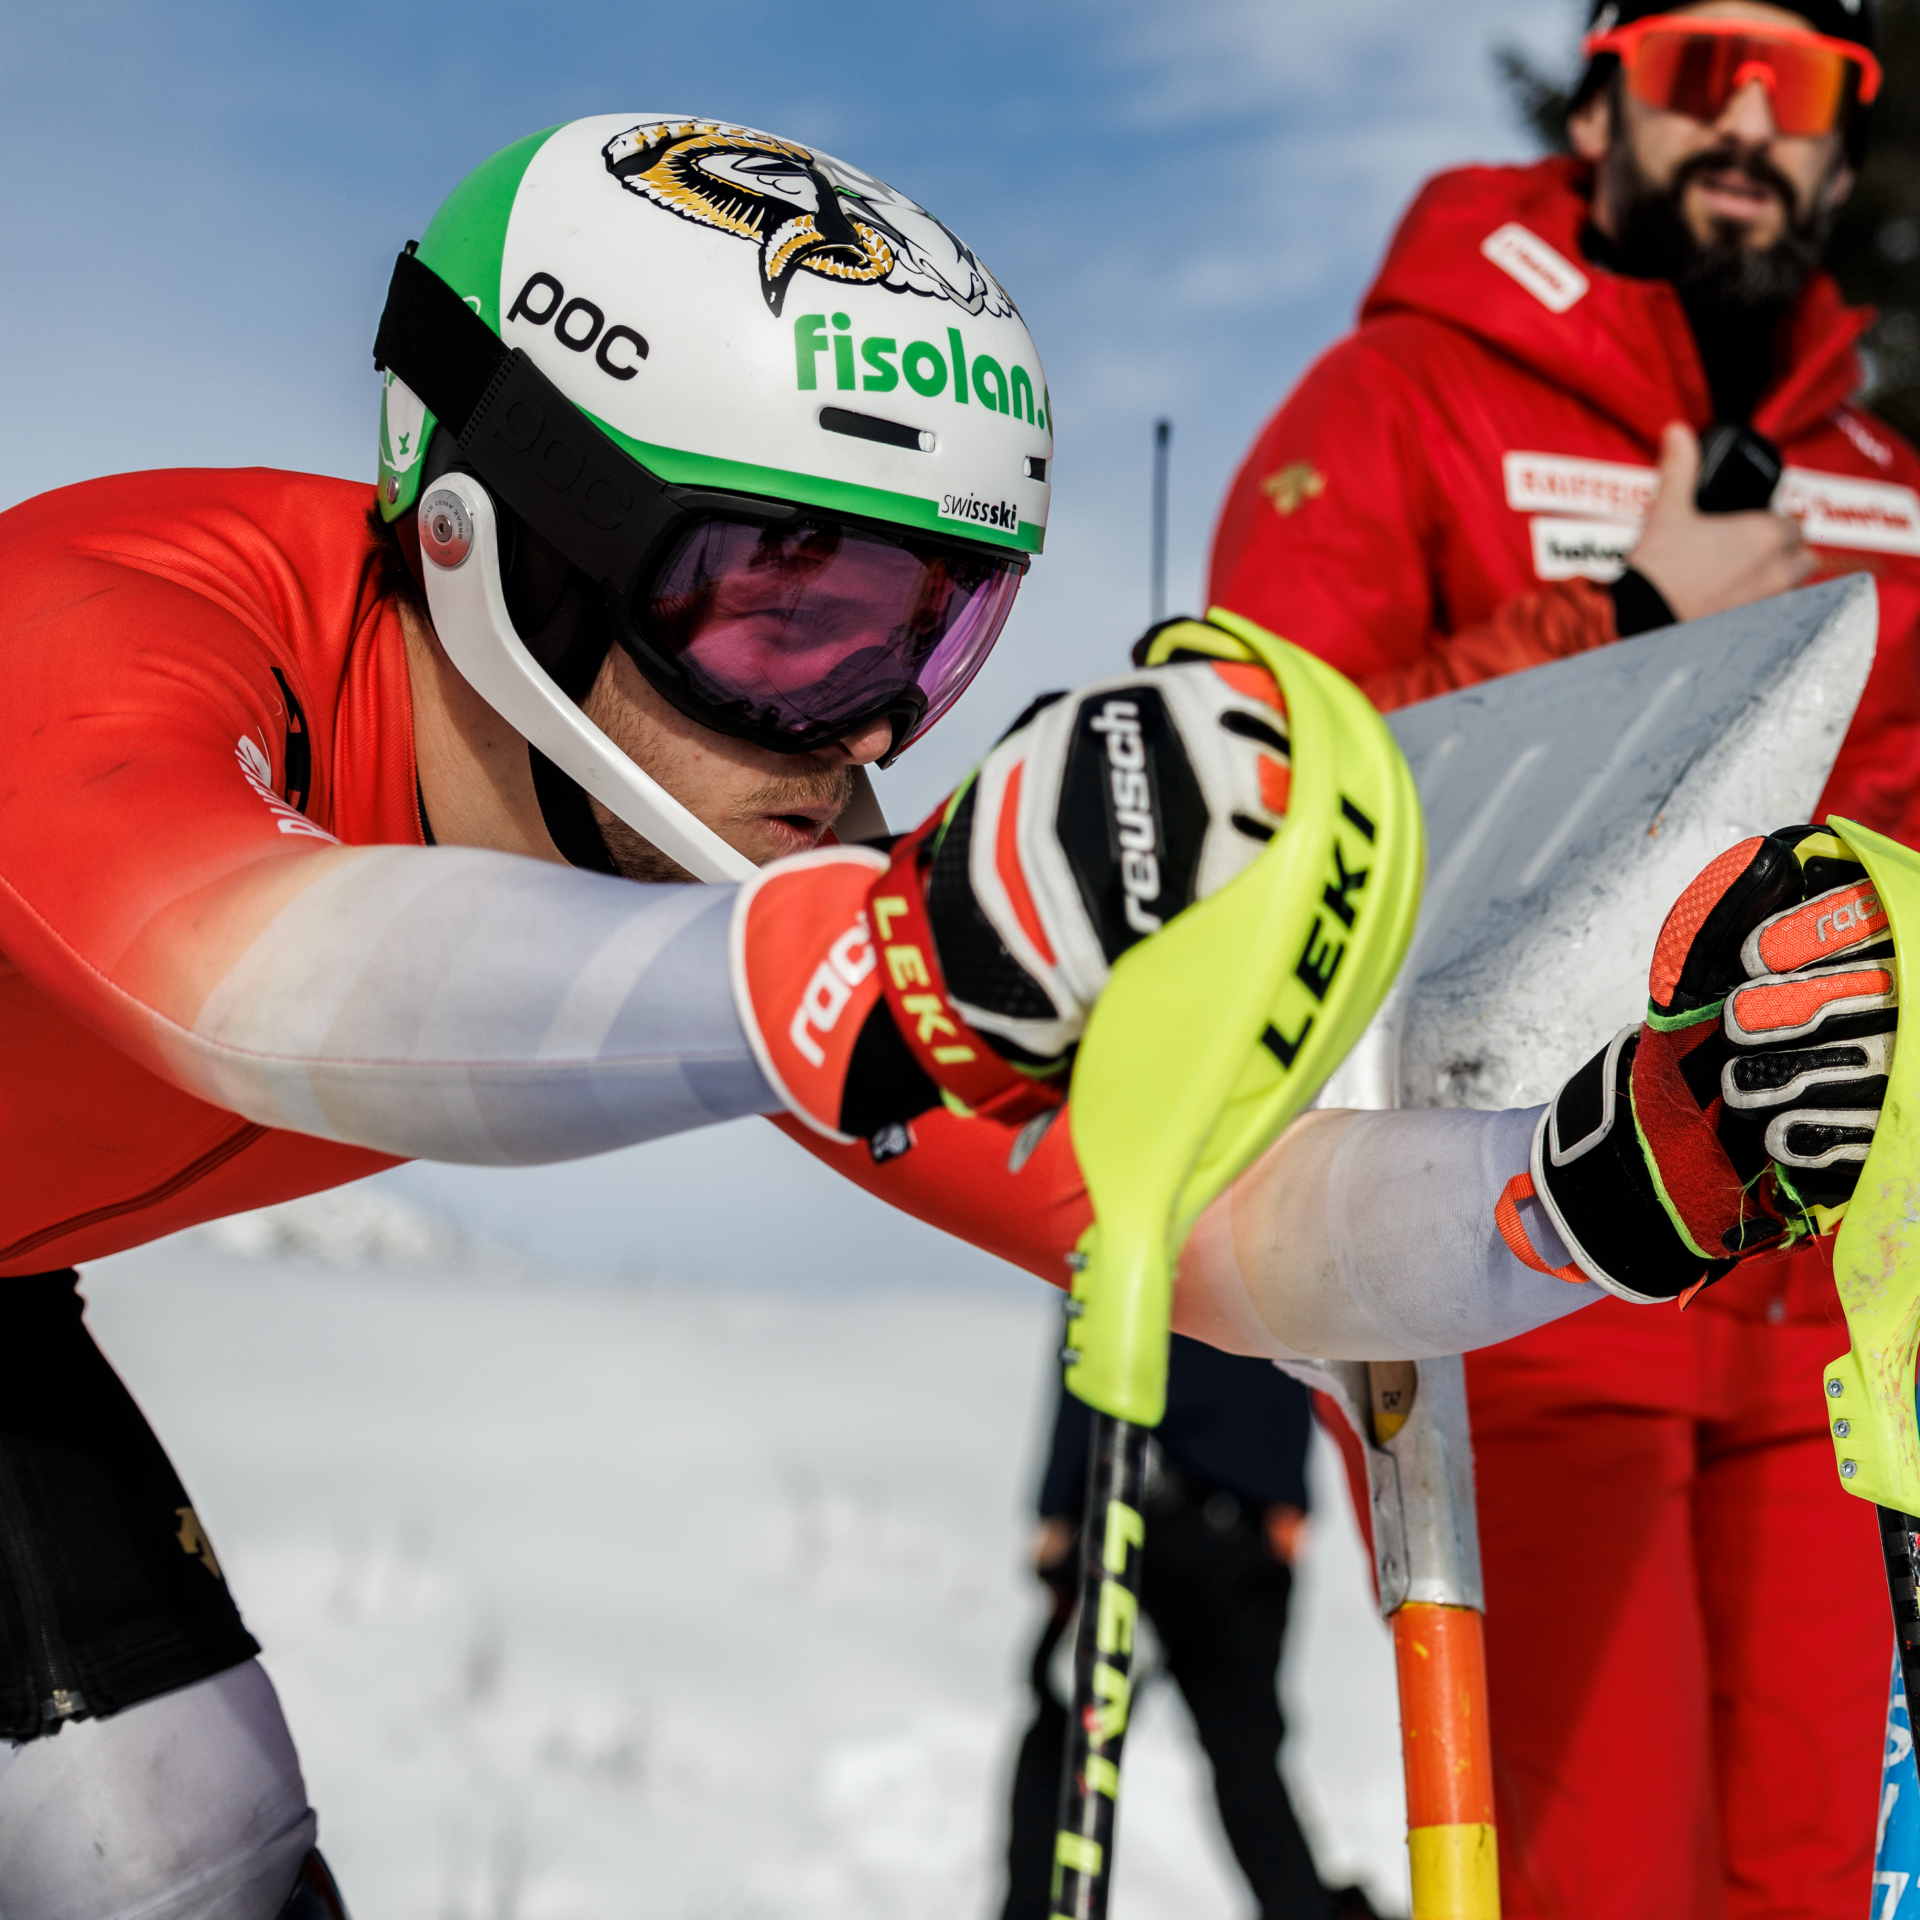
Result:
{"label": "yellow LEKI hand guard in front of the reusch glove", "polygon": [[1373,1018],[1413,935],[1427,864],[1413,776],[1365,695],[1252,620],[1217,609],[1208,620],[1162,630],[1148,660],[1181,649],[1273,672],[1292,737],[1286,824],[1244,874],[1121,954],[1068,1110],[1094,1223],[1066,1380],[1140,1427],[1165,1411],[1188,1229]]}

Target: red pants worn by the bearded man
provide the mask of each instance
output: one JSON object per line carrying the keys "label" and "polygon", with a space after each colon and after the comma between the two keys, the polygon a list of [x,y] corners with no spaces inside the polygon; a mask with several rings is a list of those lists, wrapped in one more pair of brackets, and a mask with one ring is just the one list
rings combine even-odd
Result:
{"label": "red pants worn by the bearded man", "polygon": [[1824,1252],[1467,1359],[1505,1920],[1866,1920],[1887,1665]]}

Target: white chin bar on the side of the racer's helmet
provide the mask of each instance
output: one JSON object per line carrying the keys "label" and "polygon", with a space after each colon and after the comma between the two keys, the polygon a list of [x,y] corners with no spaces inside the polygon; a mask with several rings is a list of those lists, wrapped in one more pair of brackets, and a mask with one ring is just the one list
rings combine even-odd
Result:
{"label": "white chin bar on the side of the racer's helmet", "polygon": [[434,632],[501,720],[695,879],[733,881],[758,872],[636,766],[526,651],[499,584],[493,501],[472,474],[444,474],[420,501],[420,559]]}

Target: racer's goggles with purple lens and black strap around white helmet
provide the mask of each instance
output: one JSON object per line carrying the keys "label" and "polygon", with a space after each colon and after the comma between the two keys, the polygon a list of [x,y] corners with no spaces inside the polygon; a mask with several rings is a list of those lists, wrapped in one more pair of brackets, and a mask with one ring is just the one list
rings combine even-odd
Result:
{"label": "racer's goggles with purple lens and black strap around white helmet", "polygon": [[612,637],[674,707],[774,753],[885,718],[889,764],[966,691],[1027,570],[983,541],[662,480],[413,253],[394,263],[374,365],[438,422],[422,480],[472,472],[595,582]]}

